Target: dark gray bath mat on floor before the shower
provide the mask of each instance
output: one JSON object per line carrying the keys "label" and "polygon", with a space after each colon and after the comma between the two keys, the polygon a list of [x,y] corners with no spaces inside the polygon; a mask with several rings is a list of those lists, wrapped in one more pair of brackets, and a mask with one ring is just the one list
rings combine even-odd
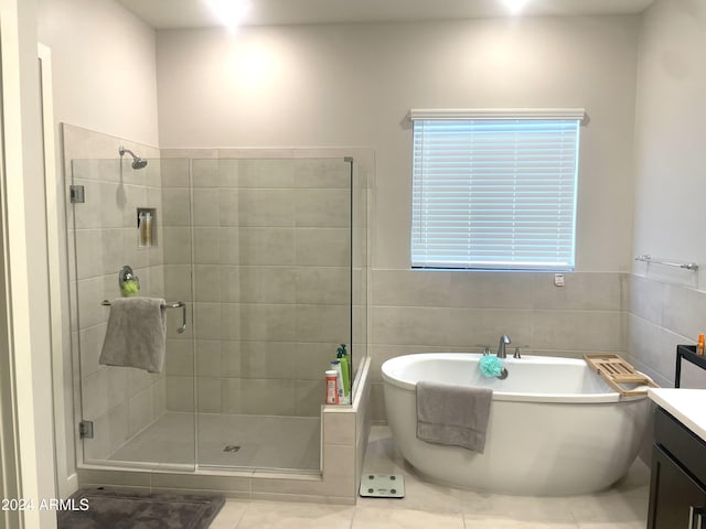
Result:
{"label": "dark gray bath mat on floor before the shower", "polygon": [[58,529],[206,529],[225,503],[218,496],[104,488],[83,488],[71,498],[73,509],[57,512]]}

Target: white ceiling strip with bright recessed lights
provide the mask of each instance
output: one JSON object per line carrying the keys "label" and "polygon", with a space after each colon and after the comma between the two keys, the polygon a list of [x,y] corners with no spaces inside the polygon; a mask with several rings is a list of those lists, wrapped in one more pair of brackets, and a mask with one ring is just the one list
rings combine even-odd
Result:
{"label": "white ceiling strip with bright recessed lights", "polygon": [[[154,29],[220,25],[204,0],[117,0]],[[243,25],[506,17],[501,0],[249,0]],[[639,13],[653,0],[531,0],[530,15]]]}

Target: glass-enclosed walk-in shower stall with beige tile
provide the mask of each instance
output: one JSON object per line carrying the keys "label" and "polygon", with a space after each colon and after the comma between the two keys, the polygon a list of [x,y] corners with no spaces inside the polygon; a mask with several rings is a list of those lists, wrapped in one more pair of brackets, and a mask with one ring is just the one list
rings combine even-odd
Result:
{"label": "glass-enclosed walk-in shower stall with beige tile", "polygon": [[[71,161],[84,464],[321,472],[324,370],[341,344],[353,379],[366,355],[367,177],[228,152]],[[162,373],[98,361],[124,267],[167,300]]]}

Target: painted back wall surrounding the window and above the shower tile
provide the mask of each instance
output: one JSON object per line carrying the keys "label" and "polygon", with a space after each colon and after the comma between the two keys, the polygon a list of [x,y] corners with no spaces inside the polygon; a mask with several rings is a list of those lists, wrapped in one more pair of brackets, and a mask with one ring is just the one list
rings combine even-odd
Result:
{"label": "painted back wall surrounding the window and above the shower tile", "polygon": [[162,148],[376,151],[374,267],[409,267],[409,108],[585,107],[580,271],[627,271],[639,18],[159,31]]}

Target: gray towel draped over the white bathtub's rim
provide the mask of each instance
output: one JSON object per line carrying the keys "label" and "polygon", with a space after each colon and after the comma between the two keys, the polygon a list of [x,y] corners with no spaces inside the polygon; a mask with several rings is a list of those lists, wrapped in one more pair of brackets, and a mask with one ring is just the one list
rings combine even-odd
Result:
{"label": "gray towel draped over the white bathtub's rim", "polygon": [[493,390],[417,382],[417,438],[483,453]]}

